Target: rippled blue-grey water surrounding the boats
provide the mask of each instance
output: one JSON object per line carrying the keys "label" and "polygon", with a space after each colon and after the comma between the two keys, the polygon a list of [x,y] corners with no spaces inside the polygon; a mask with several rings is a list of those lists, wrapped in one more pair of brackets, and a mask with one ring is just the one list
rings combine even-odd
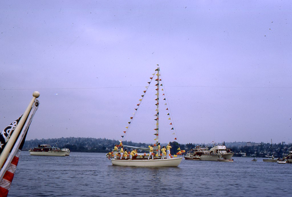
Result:
{"label": "rippled blue-grey water surrounding the boats", "polygon": [[292,164],[234,157],[177,168],[112,166],[104,153],[21,152],[8,196],[291,196]]}

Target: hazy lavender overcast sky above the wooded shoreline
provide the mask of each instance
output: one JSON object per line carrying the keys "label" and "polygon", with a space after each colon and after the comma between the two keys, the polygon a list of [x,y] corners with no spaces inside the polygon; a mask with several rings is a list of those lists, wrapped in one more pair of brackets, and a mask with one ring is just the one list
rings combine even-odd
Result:
{"label": "hazy lavender overcast sky above the wooded shoreline", "polygon": [[[159,64],[159,141],[291,143],[291,4],[1,1],[0,130],[39,91],[27,139],[121,140]],[[151,93],[124,140],[154,141]]]}

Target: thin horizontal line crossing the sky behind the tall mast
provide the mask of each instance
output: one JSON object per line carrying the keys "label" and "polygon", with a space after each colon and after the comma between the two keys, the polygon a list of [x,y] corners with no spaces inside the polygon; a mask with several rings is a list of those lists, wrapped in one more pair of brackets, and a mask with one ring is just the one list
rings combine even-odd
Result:
{"label": "thin horizontal line crossing the sky behind the tall mast", "polygon": [[[141,88],[145,86],[112,86],[112,87],[92,87],[92,88],[1,88],[0,90],[74,90],[74,89],[105,89],[105,88]],[[150,87],[150,86],[149,86]],[[152,87],[152,86],[151,86]],[[287,88],[292,87],[263,87],[263,86],[164,86],[164,87],[202,87],[202,88]]]}

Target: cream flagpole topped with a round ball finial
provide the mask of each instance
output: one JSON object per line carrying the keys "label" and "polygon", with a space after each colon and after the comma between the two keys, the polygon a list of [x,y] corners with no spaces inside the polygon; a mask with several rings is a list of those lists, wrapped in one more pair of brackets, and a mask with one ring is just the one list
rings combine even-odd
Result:
{"label": "cream flagpole topped with a round ball finial", "polygon": [[7,158],[9,151],[11,150],[15,140],[17,139],[17,136],[20,132],[20,129],[22,128],[22,125],[25,123],[25,120],[30,112],[30,110],[32,109],[32,105],[34,104],[34,101],[36,100],[36,98],[39,97],[39,92],[38,91],[34,91],[34,93],[32,94],[32,100],[30,101],[29,105],[27,106],[25,112],[23,113],[22,117],[19,120],[19,123],[17,124],[17,126],[15,127],[15,130],[13,132],[13,134],[11,135],[11,137],[9,138],[6,146],[4,147],[1,155],[0,155],[0,168],[3,166],[5,159]]}

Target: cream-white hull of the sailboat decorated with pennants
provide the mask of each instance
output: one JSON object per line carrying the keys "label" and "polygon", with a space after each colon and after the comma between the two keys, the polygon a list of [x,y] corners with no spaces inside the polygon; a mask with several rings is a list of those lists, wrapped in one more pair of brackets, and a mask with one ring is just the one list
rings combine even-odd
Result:
{"label": "cream-white hull of the sailboat decorated with pennants", "polygon": [[140,167],[177,167],[183,157],[171,159],[142,159],[142,160],[120,160],[112,159],[113,166],[140,166]]}

